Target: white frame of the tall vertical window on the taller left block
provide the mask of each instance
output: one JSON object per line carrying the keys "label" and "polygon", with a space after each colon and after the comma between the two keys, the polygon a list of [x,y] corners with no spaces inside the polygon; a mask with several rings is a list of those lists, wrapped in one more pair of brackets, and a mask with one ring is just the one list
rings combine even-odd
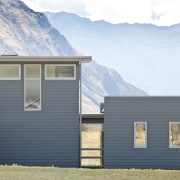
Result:
{"label": "white frame of the tall vertical window on the taller left block", "polygon": [[[39,78],[26,78],[26,65],[39,65],[40,68],[40,77]],[[39,80],[40,81],[40,108],[39,109],[26,109],[26,80]],[[41,84],[41,64],[24,64],[24,111],[41,111],[41,88],[42,88],[42,84]]]}

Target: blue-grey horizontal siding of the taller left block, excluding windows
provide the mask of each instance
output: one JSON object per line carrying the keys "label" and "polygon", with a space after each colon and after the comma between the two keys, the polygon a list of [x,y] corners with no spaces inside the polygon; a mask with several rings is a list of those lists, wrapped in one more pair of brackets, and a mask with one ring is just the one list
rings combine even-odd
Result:
{"label": "blue-grey horizontal siding of the taller left block, excluding windows", "polygon": [[23,65],[20,81],[0,81],[0,164],[79,167],[79,65],[76,77],[44,80],[42,64],[40,112],[24,111]]}

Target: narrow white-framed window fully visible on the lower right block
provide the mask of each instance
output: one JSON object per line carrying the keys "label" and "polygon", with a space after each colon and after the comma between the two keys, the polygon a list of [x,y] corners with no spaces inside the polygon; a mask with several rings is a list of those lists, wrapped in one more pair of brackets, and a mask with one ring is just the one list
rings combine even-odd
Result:
{"label": "narrow white-framed window fully visible on the lower right block", "polygon": [[147,123],[134,123],[134,147],[147,148]]}

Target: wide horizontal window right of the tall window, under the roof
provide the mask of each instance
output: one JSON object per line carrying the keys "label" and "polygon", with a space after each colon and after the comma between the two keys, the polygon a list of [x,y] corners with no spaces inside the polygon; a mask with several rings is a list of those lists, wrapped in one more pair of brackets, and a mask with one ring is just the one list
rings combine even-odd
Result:
{"label": "wide horizontal window right of the tall window, under the roof", "polygon": [[46,80],[74,80],[76,79],[76,65],[74,64],[46,64]]}

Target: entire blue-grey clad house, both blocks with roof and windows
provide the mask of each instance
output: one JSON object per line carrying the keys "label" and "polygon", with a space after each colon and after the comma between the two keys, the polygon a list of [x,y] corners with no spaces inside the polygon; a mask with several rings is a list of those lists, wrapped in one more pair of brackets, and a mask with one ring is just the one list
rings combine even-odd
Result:
{"label": "entire blue-grey clad house, both blocks with roof and windows", "polygon": [[0,57],[0,164],[180,169],[180,97],[105,97],[81,114],[91,57]]}

